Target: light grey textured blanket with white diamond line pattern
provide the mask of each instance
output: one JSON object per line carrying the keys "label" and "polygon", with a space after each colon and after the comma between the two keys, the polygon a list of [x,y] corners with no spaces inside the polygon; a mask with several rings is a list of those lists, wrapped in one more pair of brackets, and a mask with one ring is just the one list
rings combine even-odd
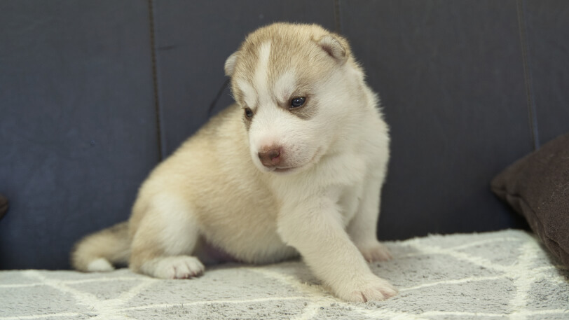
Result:
{"label": "light grey textured blanket with white diamond line pattern", "polygon": [[394,259],[371,267],[399,295],[383,302],[338,300],[299,261],[221,265],[189,280],[22,270],[0,272],[0,320],[569,319],[569,272],[526,232],[387,245]]}

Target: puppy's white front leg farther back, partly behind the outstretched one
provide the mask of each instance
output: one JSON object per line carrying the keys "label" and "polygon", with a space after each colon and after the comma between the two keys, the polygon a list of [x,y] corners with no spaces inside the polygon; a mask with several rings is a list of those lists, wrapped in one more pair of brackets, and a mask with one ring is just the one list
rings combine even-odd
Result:
{"label": "puppy's white front leg farther back, partly behind the outstretched one", "polygon": [[348,225],[348,234],[367,261],[390,260],[391,253],[377,240],[377,224],[381,184],[383,179],[369,179],[364,186],[364,197]]}

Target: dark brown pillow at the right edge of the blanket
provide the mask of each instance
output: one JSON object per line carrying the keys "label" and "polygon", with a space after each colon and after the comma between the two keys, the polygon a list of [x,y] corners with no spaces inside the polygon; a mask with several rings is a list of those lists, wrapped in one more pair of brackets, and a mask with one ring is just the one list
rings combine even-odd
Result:
{"label": "dark brown pillow at the right edge of the blanket", "polygon": [[526,217],[551,253],[569,267],[569,134],[514,162],[492,191]]}

